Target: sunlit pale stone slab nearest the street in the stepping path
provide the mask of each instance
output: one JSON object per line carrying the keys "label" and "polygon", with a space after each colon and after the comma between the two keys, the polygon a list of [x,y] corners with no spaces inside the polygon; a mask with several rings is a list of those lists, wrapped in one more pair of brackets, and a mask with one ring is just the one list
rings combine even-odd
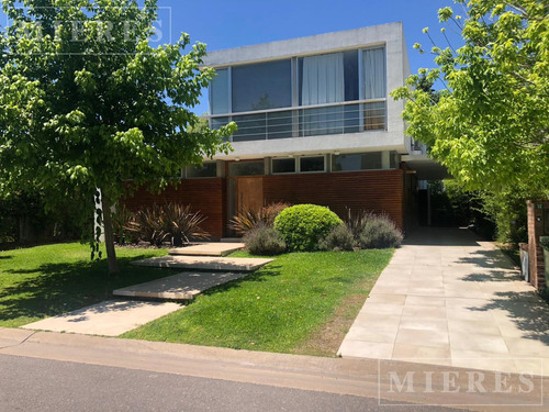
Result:
{"label": "sunlit pale stone slab nearest the street in the stepping path", "polygon": [[117,336],[183,308],[173,302],[108,300],[22,326],[27,330]]}

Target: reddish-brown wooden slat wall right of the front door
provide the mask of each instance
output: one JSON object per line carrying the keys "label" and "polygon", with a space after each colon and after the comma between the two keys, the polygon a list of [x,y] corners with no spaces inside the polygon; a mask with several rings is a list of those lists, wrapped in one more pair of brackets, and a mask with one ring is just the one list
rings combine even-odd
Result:
{"label": "reddish-brown wooden slat wall right of the front door", "polygon": [[404,171],[365,170],[333,174],[272,175],[264,177],[265,203],[326,205],[345,218],[351,211],[388,213],[404,227]]}

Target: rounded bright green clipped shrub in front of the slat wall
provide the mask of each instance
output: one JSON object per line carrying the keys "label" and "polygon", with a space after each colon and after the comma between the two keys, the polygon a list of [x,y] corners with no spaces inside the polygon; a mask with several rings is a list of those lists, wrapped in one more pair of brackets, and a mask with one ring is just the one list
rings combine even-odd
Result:
{"label": "rounded bright green clipped shrub in front of the slat wall", "polygon": [[316,250],[318,241],[341,220],[328,208],[316,204],[296,204],[284,209],[274,219],[274,229],[280,232],[289,250]]}

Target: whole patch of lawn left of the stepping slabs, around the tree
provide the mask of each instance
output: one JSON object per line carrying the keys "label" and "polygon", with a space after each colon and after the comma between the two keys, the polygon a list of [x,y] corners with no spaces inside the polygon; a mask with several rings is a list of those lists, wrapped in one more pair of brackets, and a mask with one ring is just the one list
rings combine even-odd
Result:
{"label": "whole patch of lawn left of the stepping slabs, around the tree", "polygon": [[121,272],[91,261],[90,248],[64,243],[0,252],[0,326],[15,327],[100,302],[113,289],[169,276],[170,270],[130,266],[165,249],[116,249]]}

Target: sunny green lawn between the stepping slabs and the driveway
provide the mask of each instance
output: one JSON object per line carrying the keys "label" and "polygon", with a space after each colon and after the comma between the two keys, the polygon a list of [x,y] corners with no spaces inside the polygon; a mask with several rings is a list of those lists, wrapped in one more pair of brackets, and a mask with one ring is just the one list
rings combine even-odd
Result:
{"label": "sunny green lawn between the stepping slabs and the driveway", "polygon": [[255,274],[211,289],[186,309],[122,337],[307,353],[303,348],[315,346],[307,342],[334,323],[339,305],[357,293],[363,302],[392,254],[385,249],[281,255]]}

